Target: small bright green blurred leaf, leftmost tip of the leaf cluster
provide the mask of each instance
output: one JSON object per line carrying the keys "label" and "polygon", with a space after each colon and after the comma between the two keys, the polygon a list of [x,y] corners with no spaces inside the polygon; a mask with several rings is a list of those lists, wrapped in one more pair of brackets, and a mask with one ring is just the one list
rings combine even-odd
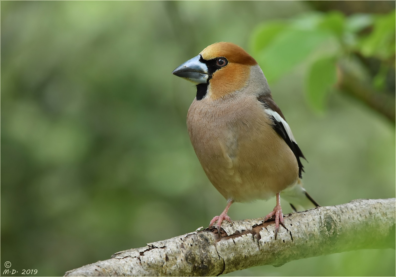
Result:
{"label": "small bright green blurred leaf, leftmost tip of the leaf cluster", "polygon": [[264,49],[286,26],[286,23],[279,21],[273,21],[258,26],[253,31],[251,49],[255,53]]}

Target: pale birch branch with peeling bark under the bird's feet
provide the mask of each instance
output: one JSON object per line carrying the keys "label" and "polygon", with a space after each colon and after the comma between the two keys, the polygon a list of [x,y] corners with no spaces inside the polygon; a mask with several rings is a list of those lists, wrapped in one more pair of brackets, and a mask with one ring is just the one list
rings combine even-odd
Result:
{"label": "pale birch branch with peeling bark under the bird's feet", "polygon": [[207,276],[260,265],[357,249],[395,247],[395,198],[354,200],[285,215],[274,240],[274,221],[223,224],[118,252],[109,260],[67,271],[65,276]]}

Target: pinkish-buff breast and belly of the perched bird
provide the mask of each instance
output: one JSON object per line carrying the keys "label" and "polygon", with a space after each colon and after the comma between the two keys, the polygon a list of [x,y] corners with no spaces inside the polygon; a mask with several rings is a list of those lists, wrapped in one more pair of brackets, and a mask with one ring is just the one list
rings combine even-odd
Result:
{"label": "pinkish-buff breast and belly of the perched bird", "polygon": [[195,153],[227,200],[268,199],[297,180],[297,160],[259,103],[230,101],[224,106],[221,100],[192,102],[187,126]]}

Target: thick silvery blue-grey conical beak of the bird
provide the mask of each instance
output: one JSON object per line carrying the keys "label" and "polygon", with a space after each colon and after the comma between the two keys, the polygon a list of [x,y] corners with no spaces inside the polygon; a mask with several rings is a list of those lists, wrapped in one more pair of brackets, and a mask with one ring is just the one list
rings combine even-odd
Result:
{"label": "thick silvery blue-grey conical beak of the bird", "polygon": [[184,64],[179,65],[172,74],[182,77],[196,85],[206,83],[209,79],[208,66],[200,62],[201,55],[198,55]]}

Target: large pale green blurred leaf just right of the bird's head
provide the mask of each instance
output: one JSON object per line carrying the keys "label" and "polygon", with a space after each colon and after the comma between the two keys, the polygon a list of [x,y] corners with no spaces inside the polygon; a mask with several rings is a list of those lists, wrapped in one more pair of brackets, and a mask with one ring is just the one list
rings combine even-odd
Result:
{"label": "large pale green blurred leaf just right of the bird's head", "polygon": [[305,60],[315,49],[328,40],[328,32],[320,30],[285,29],[267,47],[256,54],[257,62],[268,83],[276,81],[294,66]]}

